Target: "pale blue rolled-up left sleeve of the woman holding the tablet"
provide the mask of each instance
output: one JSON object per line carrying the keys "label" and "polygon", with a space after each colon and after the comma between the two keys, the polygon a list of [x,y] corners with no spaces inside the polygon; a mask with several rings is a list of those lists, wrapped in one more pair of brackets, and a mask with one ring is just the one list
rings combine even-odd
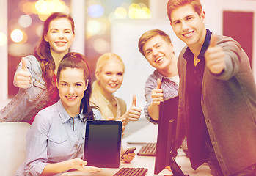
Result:
{"label": "pale blue rolled-up left sleeve of the woman holding the tablet", "polygon": [[41,111],[35,117],[26,136],[25,175],[40,175],[48,164],[48,131],[50,120]]}

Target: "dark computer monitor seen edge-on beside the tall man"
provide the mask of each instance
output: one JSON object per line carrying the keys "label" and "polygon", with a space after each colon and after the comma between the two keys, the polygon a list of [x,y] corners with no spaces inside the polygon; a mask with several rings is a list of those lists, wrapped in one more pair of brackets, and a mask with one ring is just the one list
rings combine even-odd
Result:
{"label": "dark computer monitor seen edge-on beside the tall man", "polygon": [[176,96],[160,103],[155,175],[158,175],[166,166],[170,166],[174,176],[184,176],[174,158],[171,157],[171,152],[175,152],[178,99],[178,96]]}

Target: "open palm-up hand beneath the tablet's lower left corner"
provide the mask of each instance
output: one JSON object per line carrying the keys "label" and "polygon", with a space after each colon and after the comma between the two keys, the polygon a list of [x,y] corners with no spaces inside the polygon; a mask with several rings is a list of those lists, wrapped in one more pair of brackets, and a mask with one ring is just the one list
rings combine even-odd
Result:
{"label": "open palm-up hand beneath the tablet's lower left corner", "polygon": [[73,159],[73,167],[81,172],[99,172],[101,169],[94,166],[87,166],[87,161],[80,158]]}

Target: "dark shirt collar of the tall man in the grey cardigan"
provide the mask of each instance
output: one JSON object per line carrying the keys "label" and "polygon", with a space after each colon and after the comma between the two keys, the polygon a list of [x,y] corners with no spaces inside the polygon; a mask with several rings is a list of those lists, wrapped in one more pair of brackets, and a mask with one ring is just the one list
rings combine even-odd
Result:
{"label": "dark shirt collar of the tall man in the grey cardigan", "polygon": [[[198,59],[205,59],[205,51],[207,50],[210,40],[211,40],[211,34],[210,30],[206,29],[206,36],[205,36],[205,42],[202,44],[202,48],[200,51],[200,54],[198,56]],[[188,59],[194,58],[194,54],[191,52],[191,50],[186,48],[185,53],[183,54],[183,57],[188,61]]]}

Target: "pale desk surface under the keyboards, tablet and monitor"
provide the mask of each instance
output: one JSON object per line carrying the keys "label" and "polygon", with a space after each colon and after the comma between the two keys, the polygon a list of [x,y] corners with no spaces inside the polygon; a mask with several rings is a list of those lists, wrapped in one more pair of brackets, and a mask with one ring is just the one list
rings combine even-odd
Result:
{"label": "pale desk surface under the keyboards, tablet and monitor", "polygon": [[[156,140],[156,133],[157,133],[157,125],[147,125],[144,128],[142,128],[139,131],[136,131],[136,133],[131,134],[131,136],[128,136],[123,139],[123,147],[136,147],[135,153],[139,152],[139,149],[142,147],[142,144],[131,144],[131,138],[137,137],[137,136],[149,136],[149,134],[152,134],[153,138],[148,139],[149,142],[153,142]],[[137,140],[137,139],[136,139]],[[129,142],[129,143],[128,143]],[[184,174],[186,175],[197,175],[197,176],[211,176],[210,169],[207,164],[202,164],[196,171],[191,168],[191,164],[189,162],[189,158],[186,157],[185,153],[183,153],[183,150],[178,150],[178,156],[175,158],[175,161],[178,163],[178,165],[181,166],[181,169],[183,170]],[[122,167],[144,167],[147,168],[147,175],[153,176],[154,175],[154,167],[155,167],[155,157],[152,156],[138,156],[136,155],[134,160],[131,161],[130,164],[126,164],[121,162],[120,168]],[[92,173],[83,173],[79,171],[73,171],[73,172],[65,172],[62,175],[88,175],[88,176],[111,176],[114,175],[119,169],[106,169],[103,168],[100,172],[92,172]],[[167,169],[164,169],[160,172],[159,175],[172,175],[172,172],[170,172]]]}

